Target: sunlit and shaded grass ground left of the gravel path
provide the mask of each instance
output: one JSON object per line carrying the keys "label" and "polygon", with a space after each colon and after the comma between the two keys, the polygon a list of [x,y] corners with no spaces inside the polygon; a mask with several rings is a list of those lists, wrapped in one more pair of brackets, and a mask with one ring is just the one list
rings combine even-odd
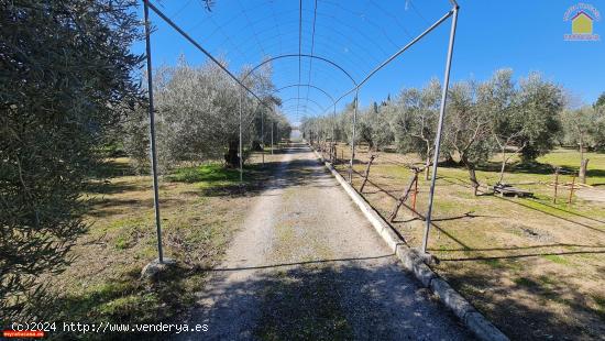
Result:
{"label": "sunlit and shaded grass ground left of the gravel path", "polygon": [[[124,162],[113,164],[122,167]],[[255,164],[246,169],[245,185],[256,186],[263,169]],[[140,274],[157,256],[150,184],[150,176],[117,176],[108,179],[111,190],[87,194],[92,199],[86,217],[90,230],[76,242],[75,261],[64,273],[41,278],[55,297],[36,306],[41,314],[65,321],[173,321],[196,301],[195,293],[206,280],[201,270],[220,262],[251,201],[239,191],[221,193],[239,185],[239,172],[220,164],[178,168],[164,177],[160,188],[164,254],[177,266],[148,282]],[[217,195],[208,196],[207,189],[217,189]],[[128,338],[57,333],[51,339]]]}

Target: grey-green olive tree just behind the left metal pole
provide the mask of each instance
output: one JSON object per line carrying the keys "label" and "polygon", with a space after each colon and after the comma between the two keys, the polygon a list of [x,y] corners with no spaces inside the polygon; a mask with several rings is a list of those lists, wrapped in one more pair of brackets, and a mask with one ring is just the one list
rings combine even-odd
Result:
{"label": "grey-green olive tree just behind the left metal pole", "polygon": [[[183,56],[174,66],[157,68],[153,82],[158,161],[164,172],[184,162],[223,157],[228,166],[238,166],[240,103],[243,145],[252,145],[252,141],[258,140],[261,118],[265,127],[271,127],[275,120],[282,125],[279,131],[287,131],[279,114],[268,114],[267,108],[272,108],[275,98],[267,95],[273,85],[266,69],[245,77],[246,86],[261,96],[263,103],[246,94],[218,65],[207,62],[193,66]],[[125,134],[124,146],[132,158],[142,163],[138,158],[145,155],[147,147],[143,133],[145,116],[139,114],[128,121],[125,130],[132,133]],[[267,133],[265,131],[265,138],[271,139]]]}

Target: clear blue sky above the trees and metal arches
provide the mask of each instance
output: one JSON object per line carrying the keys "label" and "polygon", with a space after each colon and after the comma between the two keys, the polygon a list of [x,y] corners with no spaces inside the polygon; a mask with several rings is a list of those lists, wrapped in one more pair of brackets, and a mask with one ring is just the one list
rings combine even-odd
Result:
{"label": "clear blue sky above the trees and metal arches", "polygon": [[[215,0],[211,12],[201,0],[152,2],[210,53],[227,59],[233,73],[266,56],[298,54],[299,48],[321,57],[272,62],[276,87],[286,87],[278,92],[283,110],[295,122],[302,116],[331,112],[330,97],[352,88],[345,73],[333,65],[360,81],[450,9],[447,0],[317,0],[317,8],[315,0],[302,0],[300,25],[296,0]],[[483,80],[502,67],[513,68],[516,77],[540,72],[584,102],[593,102],[605,91],[605,1],[585,1],[602,11],[601,20],[594,22],[594,33],[602,36],[598,42],[563,40],[571,33],[564,13],[576,3],[461,0],[452,80]],[[152,35],[155,67],[176,63],[180,54],[190,64],[207,61],[153,12],[151,18],[156,29]],[[360,90],[361,105],[395,96],[404,87],[422,86],[431,77],[441,79],[449,30],[450,20],[372,77]],[[144,44],[133,48],[143,52]],[[351,100],[352,96],[344,98],[337,109]]]}

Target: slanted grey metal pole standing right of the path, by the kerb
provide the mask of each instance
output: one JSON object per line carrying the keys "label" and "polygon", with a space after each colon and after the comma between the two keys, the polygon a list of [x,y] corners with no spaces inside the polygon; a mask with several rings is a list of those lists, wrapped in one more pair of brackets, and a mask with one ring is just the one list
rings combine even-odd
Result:
{"label": "slanted grey metal pole standing right of the path, by the kerb", "polygon": [[435,183],[437,180],[437,163],[439,162],[439,147],[441,146],[441,131],[443,129],[443,117],[446,116],[446,102],[448,99],[448,87],[450,85],[450,69],[452,66],[452,54],[453,45],[455,37],[455,25],[458,22],[458,10],[459,7],[454,6],[453,16],[452,16],[452,26],[450,31],[450,44],[448,46],[448,59],[446,62],[446,75],[443,76],[443,91],[441,94],[441,109],[439,110],[439,125],[437,128],[437,136],[435,139],[435,155],[432,162],[432,177],[429,191],[429,208],[427,210],[427,224],[425,226],[425,235],[422,238],[422,252],[427,252],[427,244],[429,242],[429,231],[431,224],[431,215],[432,215],[432,199],[435,196]]}

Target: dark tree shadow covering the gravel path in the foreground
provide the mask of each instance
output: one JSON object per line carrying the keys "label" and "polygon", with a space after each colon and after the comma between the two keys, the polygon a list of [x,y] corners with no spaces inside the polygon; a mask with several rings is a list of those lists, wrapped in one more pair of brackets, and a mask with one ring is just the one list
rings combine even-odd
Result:
{"label": "dark tree shadow covering the gravel path in the foreground", "polygon": [[[391,257],[389,255],[381,256]],[[376,257],[257,266],[239,280],[215,271],[217,284],[200,293],[215,306],[190,321],[208,333],[178,340],[472,340],[455,317],[398,266]],[[364,266],[369,262],[370,266]],[[253,267],[254,268],[254,267]]]}

